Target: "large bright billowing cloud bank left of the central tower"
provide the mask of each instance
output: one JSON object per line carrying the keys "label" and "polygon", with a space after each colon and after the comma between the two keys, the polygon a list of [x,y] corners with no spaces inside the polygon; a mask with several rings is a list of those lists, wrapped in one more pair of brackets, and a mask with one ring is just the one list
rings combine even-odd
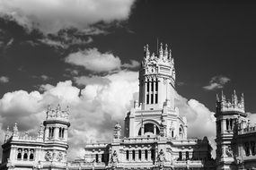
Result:
{"label": "large bright billowing cloud bank left of the central tower", "polygon": [[70,157],[75,158],[77,150],[83,157],[85,142],[111,140],[113,123],[122,121],[138,90],[137,72],[120,71],[102,79],[108,83],[89,80],[84,82],[84,89],[76,88],[72,81],[61,81],[57,85],[41,85],[43,92],[17,90],[6,93],[0,99],[1,128],[17,121],[20,130],[36,132],[40,121],[45,119],[49,104],[68,105],[72,124],[69,130]]}

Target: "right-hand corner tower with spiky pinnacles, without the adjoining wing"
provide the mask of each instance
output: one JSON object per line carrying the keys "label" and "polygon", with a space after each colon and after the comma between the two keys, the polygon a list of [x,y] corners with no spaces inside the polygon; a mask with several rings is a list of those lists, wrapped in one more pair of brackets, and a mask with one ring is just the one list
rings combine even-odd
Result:
{"label": "right-hand corner tower with spiky pinnacles, without the adjoining wing", "polygon": [[234,133],[238,118],[247,122],[243,94],[238,100],[234,90],[231,100],[222,92],[216,95],[216,169],[235,169]]}

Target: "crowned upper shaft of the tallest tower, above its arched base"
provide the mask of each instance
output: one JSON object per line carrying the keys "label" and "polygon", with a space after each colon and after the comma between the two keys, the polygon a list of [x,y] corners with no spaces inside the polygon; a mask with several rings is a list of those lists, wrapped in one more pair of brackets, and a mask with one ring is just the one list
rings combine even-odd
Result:
{"label": "crowned upper shaft of the tallest tower, above its arched base", "polygon": [[175,69],[172,50],[161,43],[158,54],[150,54],[146,45],[139,71],[139,104],[142,109],[160,109],[166,105],[174,109]]}

